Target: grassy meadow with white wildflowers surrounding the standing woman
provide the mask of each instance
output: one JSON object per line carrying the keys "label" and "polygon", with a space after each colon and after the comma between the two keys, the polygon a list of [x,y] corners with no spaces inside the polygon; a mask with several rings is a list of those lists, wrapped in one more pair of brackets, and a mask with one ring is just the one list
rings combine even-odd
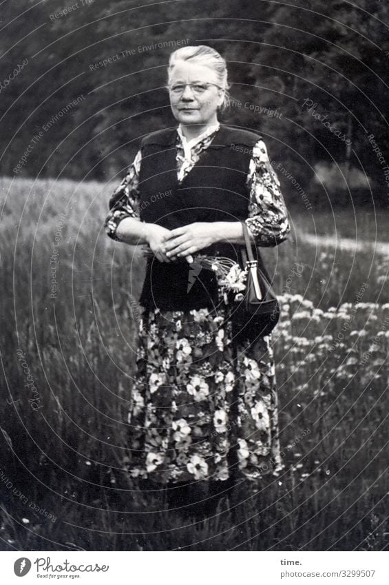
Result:
{"label": "grassy meadow with white wildflowers surrounding the standing woman", "polygon": [[144,261],[103,232],[112,185],[0,185],[1,548],[388,548],[387,214],[291,209],[264,253],[286,469],[190,525],[120,471]]}

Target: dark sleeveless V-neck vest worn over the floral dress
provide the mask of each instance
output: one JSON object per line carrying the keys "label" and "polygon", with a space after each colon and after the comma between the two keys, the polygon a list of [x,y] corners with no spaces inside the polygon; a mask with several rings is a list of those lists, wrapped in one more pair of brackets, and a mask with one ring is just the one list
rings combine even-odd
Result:
{"label": "dark sleeveless V-neck vest worn over the floral dress", "polygon": [[[177,131],[160,130],[141,144],[139,177],[140,219],[174,229],[195,222],[238,221],[249,214],[246,185],[252,149],[261,136],[220,125],[198,163],[179,184],[176,162]],[[199,251],[238,262],[240,245],[217,243]],[[196,274],[193,274],[196,273]],[[160,263],[149,258],[140,304],[166,310],[217,307],[215,274],[197,274],[187,260]]]}

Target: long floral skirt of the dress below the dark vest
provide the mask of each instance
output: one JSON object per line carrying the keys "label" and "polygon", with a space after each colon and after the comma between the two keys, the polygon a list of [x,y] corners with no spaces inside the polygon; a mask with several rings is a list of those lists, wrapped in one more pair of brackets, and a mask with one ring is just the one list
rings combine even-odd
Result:
{"label": "long floral skirt of the dress below the dark vest", "polygon": [[278,475],[270,338],[235,342],[228,309],[144,309],[125,469],[157,483]]}

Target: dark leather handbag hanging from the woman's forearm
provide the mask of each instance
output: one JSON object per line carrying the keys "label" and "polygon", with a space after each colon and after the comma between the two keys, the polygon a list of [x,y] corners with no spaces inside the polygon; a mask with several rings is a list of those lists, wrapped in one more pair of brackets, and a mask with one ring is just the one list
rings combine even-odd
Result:
{"label": "dark leather handbag hanging from the woman's forearm", "polygon": [[246,223],[241,223],[246,243],[246,249],[242,248],[241,267],[246,267],[247,280],[246,289],[240,294],[242,298],[232,303],[231,319],[234,338],[253,341],[273,331],[280,319],[280,304],[260,252],[255,246],[257,257],[254,258],[249,231]]}

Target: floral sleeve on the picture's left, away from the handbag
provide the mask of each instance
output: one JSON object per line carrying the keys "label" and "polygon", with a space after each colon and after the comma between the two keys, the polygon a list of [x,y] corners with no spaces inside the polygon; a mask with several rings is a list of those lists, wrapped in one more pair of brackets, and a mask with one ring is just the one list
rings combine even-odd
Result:
{"label": "floral sleeve on the picture's left, away from the handbag", "polygon": [[122,219],[132,217],[140,220],[138,183],[141,160],[142,154],[138,150],[127,175],[109,199],[109,214],[105,219],[104,227],[105,232],[113,240],[119,240],[116,236],[116,228]]}

